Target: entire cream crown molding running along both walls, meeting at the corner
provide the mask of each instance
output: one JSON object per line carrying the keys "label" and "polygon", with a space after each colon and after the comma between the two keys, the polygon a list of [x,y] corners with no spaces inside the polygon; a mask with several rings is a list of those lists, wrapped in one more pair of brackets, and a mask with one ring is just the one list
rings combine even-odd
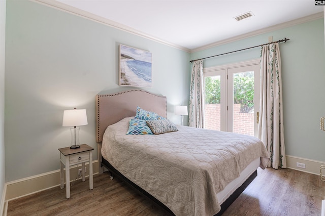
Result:
{"label": "entire cream crown molding running along both walls, meeting at the corner", "polygon": [[109,19],[97,16],[97,15],[94,15],[92,13],[89,13],[89,12],[83,11],[81,9],[78,9],[78,8],[75,8],[75,7],[72,7],[72,6],[57,2],[55,0],[29,0],[29,1],[41,4],[41,5],[45,5],[47,7],[51,7],[51,8],[60,10],[60,11],[64,11],[64,12],[67,12],[67,13],[70,13],[70,14],[74,14],[74,15],[77,15],[77,16],[80,16],[80,17],[83,17],[83,18],[86,18],[88,20],[92,20],[92,21],[95,21],[95,22],[98,22],[98,23],[101,23],[101,24],[104,24],[104,25],[108,25],[110,27],[117,28],[117,29],[123,30],[125,32],[132,33],[132,34],[135,34],[135,35],[138,35],[138,36],[141,36],[141,37],[144,37],[144,38],[159,42],[160,44],[164,44],[164,45],[167,45],[167,46],[170,46],[170,47],[185,51],[187,53],[194,53],[194,52],[206,50],[206,49],[209,49],[209,48],[213,48],[213,47],[217,47],[217,46],[220,46],[220,45],[228,44],[230,42],[234,42],[234,41],[237,41],[237,40],[240,40],[240,39],[245,39],[247,37],[252,37],[252,36],[267,33],[267,32],[270,32],[270,31],[275,31],[275,30],[279,30],[279,29],[282,29],[282,28],[287,28],[287,27],[290,27],[290,26],[302,24],[302,23],[305,23],[305,22],[313,21],[313,20],[320,19],[320,18],[324,17],[324,12],[319,12],[319,13],[316,13],[316,14],[312,14],[312,15],[309,15],[309,16],[306,16],[306,17],[296,19],[296,20],[291,20],[291,21],[284,22],[284,23],[281,23],[281,24],[278,24],[278,25],[274,25],[274,26],[270,26],[270,27],[267,27],[267,28],[252,31],[252,32],[249,32],[249,33],[246,33],[246,34],[241,34],[241,35],[238,35],[238,36],[235,36],[235,37],[230,37],[230,38],[227,38],[227,39],[224,39],[224,40],[216,41],[216,42],[214,42],[212,44],[202,46],[202,47],[199,47],[199,48],[188,49],[188,48],[173,44],[171,42],[165,41],[163,39],[154,37],[152,35],[148,35],[148,34],[142,32],[142,31],[136,30],[136,29],[134,29],[132,27],[129,27],[129,26],[114,22],[112,20],[109,20]]}

